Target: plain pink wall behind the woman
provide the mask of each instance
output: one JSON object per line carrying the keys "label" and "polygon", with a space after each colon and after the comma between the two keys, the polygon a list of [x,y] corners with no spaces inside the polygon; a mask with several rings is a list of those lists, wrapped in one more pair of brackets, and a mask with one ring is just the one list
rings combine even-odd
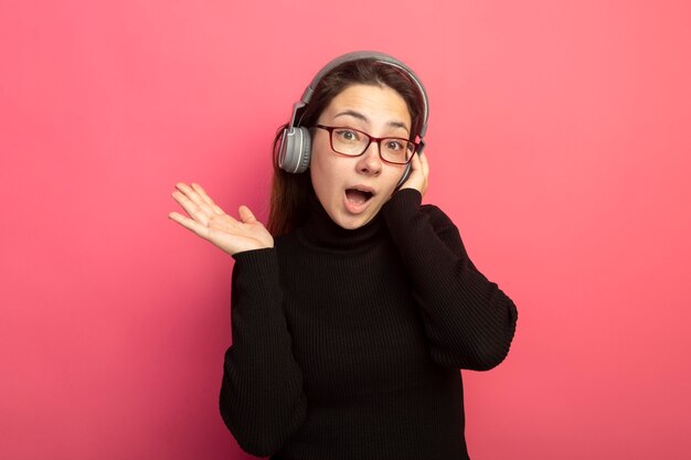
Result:
{"label": "plain pink wall behind the woman", "polygon": [[251,3],[0,2],[0,458],[249,458],[216,407],[232,259],[170,193],[265,218],[276,127],[374,49],[428,89],[425,201],[519,307],[465,373],[471,457],[687,459],[689,3]]}

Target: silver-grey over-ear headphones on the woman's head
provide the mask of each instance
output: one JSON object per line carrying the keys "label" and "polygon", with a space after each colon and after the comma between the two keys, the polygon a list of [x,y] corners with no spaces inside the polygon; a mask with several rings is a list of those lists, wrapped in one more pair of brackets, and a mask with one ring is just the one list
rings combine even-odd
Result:
{"label": "silver-grey over-ear headphones on the woman's head", "polygon": [[[392,65],[396,68],[404,71],[413,82],[415,82],[417,89],[422,96],[424,101],[424,116],[423,116],[423,126],[419,130],[418,137],[418,148],[417,153],[422,153],[425,148],[425,142],[423,141],[423,137],[427,131],[427,117],[429,114],[429,104],[427,100],[427,93],[425,92],[425,87],[419,82],[419,78],[413,73],[413,71],[401,61],[390,56],[389,54],[378,53],[374,51],[357,51],[353,53],[347,53],[341,56],[338,56],[333,61],[329,62],[319,73],[315,76],[312,82],[307,86],[305,93],[302,93],[302,97],[300,100],[293,105],[293,115],[290,117],[290,122],[283,130],[280,135],[280,147],[278,150],[278,165],[280,169],[293,172],[300,173],[307,171],[309,167],[310,159],[310,150],[311,150],[311,137],[309,133],[309,129],[302,126],[299,126],[299,117],[304,113],[305,107],[309,104],[309,100],[317,88],[317,85],[321,81],[321,78],[331,72],[333,68],[339,65],[351,62],[351,61],[360,61],[360,60],[374,60],[376,62],[381,62],[384,64]],[[296,122],[297,120],[297,122]],[[411,172],[411,163],[406,164],[405,172],[398,181],[396,188],[398,188],[405,180],[407,179]]]}

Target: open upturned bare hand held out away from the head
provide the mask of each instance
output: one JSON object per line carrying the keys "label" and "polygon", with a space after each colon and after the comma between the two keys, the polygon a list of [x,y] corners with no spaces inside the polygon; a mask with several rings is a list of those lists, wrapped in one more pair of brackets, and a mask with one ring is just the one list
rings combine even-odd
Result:
{"label": "open upturned bare hand held out away from the head", "polygon": [[231,256],[244,250],[274,247],[272,234],[247,206],[240,206],[240,218],[236,220],[223,212],[199,184],[178,183],[176,189],[173,200],[191,218],[176,212],[168,216]]}

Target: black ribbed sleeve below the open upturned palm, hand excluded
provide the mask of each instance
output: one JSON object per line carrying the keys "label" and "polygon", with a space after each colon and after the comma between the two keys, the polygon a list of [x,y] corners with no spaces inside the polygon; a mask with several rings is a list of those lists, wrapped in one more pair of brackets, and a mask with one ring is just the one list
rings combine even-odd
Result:
{"label": "black ribbed sleeve below the open upturned palm, hand excluded", "polygon": [[245,451],[268,457],[298,430],[307,399],[293,356],[275,249],[234,257],[233,345],[223,365],[221,416]]}

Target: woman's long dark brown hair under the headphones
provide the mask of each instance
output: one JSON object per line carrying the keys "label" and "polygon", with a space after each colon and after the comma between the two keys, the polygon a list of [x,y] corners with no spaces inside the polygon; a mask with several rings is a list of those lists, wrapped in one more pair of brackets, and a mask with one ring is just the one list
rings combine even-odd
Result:
{"label": "woman's long dark brown hair under the headphones", "polygon": [[[371,58],[346,62],[321,78],[315,93],[305,107],[299,126],[311,127],[331,100],[351,85],[387,86],[403,97],[411,113],[411,139],[415,139],[424,124],[424,99],[411,76],[397,67]],[[299,227],[307,216],[308,199],[312,192],[309,171],[294,174],[278,167],[278,147],[287,124],[279,127],[274,138],[268,231],[279,236]]]}

